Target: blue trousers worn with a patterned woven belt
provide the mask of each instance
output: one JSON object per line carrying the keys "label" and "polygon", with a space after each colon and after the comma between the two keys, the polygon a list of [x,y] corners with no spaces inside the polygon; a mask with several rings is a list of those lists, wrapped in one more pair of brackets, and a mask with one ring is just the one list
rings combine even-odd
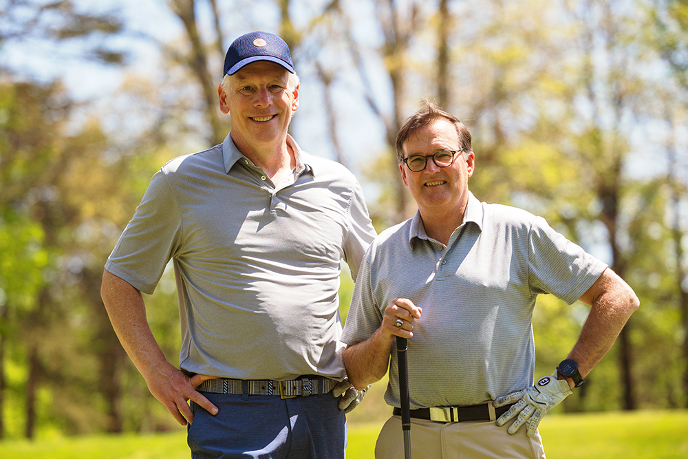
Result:
{"label": "blue trousers worn with a patterned woven belt", "polygon": [[332,394],[279,396],[203,394],[212,416],[191,402],[192,459],[345,459],[344,412]]}

